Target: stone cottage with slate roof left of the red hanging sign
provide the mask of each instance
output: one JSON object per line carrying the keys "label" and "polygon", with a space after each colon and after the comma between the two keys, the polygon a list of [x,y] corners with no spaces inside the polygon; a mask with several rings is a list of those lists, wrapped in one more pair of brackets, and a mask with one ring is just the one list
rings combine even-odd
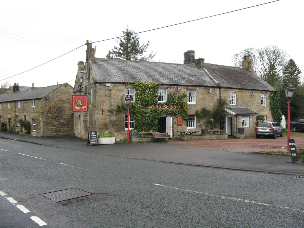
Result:
{"label": "stone cottage with slate roof left of the red hanging sign", "polygon": [[73,87],[64,83],[47,87],[19,89],[0,94],[0,121],[13,132],[24,130],[19,120],[31,123],[31,135],[56,136],[73,133]]}

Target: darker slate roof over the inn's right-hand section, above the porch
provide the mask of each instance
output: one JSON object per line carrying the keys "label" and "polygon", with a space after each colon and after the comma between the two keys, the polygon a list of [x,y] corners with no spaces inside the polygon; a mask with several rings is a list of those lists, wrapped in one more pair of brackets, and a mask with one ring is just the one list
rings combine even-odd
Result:
{"label": "darker slate roof over the inn's right-hand section, above the porch", "polygon": [[274,90],[271,85],[254,72],[247,71],[240,67],[205,63],[205,68],[218,83],[221,83],[220,87],[266,91]]}

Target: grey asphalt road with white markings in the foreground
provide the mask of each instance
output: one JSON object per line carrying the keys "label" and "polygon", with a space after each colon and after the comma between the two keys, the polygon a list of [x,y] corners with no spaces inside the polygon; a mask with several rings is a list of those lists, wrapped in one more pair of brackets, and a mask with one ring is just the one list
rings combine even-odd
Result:
{"label": "grey asphalt road with white markings in the foreground", "polygon": [[[62,202],[41,195],[73,187],[93,194]],[[303,227],[303,187],[304,180],[293,175],[0,139],[0,191],[6,194],[0,195],[0,227],[38,227],[32,216],[47,223],[43,227],[61,228]],[[17,205],[30,212],[23,213]]]}

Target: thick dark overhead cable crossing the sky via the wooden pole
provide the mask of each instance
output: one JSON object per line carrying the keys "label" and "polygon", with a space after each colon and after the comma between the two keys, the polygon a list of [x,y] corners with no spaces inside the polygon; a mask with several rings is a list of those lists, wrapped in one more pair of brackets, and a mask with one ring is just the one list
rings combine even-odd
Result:
{"label": "thick dark overhead cable crossing the sky via the wooden pole", "polygon": [[[198,20],[210,18],[210,17],[215,17],[215,16],[219,16],[219,15],[224,15],[224,14],[227,14],[227,13],[237,12],[237,11],[244,10],[244,9],[250,9],[250,8],[253,8],[253,7],[256,7],[256,6],[266,5],[266,4],[273,3],[273,2],[278,2],[278,1],[281,1],[281,0],[275,0],[275,1],[272,1],[272,2],[266,2],[266,3],[259,4],[259,5],[253,5],[253,6],[249,6],[249,7],[242,8],[242,9],[237,9],[237,10],[233,10],[233,11],[229,11],[229,12],[219,13],[219,14],[215,14],[215,15],[212,15],[212,16],[202,17],[202,18],[199,18],[199,19],[194,19],[194,20],[191,20],[191,21],[186,21],[186,22],[181,22],[181,23],[177,23],[177,24],[173,24],[173,25],[168,25],[168,26],[164,26],[164,27],[160,27],[160,28],[156,28],[156,29],[150,29],[150,30],[146,30],[146,31],[138,32],[138,33],[133,33],[133,34],[126,35],[126,36],[131,36],[131,35],[140,34],[140,33],[146,33],[146,32],[150,32],[150,31],[157,30],[157,29],[168,28],[168,27],[171,27],[171,26],[181,25],[181,24],[185,24],[185,23],[188,23],[188,22],[193,22],[193,21],[198,21]],[[2,35],[3,35],[3,34],[2,34]],[[95,41],[95,42],[91,42],[91,43],[98,43],[98,42],[103,42],[103,41],[107,41],[107,40],[118,39],[118,38],[121,38],[121,37],[125,37],[125,36],[117,36],[117,37],[114,37],[114,38],[110,38],[110,39],[106,39],[106,40],[99,40],[99,41]],[[12,37],[11,37],[11,38],[12,38]],[[24,42],[25,42],[25,41],[24,41]],[[27,42],[26,42],[26,43],[27,43]],[[84,46],[84,45],[86,45],[86,44],[83,44],[83,45],[81,45],[80,47],[82,47],[82,46]],[[80,47],[77,47],[77,48],[75,48],[74,50],[76,50],[76,49],[78,49],[78,48],[80,48]],[[58,58],[60,58],[60,57],[62,57],[62,56],[64,56],[64,55],[66,55],[66,54],[68,54],[68,53],[70,53],[70,52],[72,52],[72,51],[74,51],[74,50],[71,50],[71,51],[69,51],[69,52],[67,52],[67,53],[65,53],[65,54],[63,54],[63,55],[60,55],[60,56],[58,56],[58,57],[56,57],[56,58],[54,58],[54,59],[52,59],[52,60],[50,60],[50,61],[47,61],[46,63],[40,64],[39,66],[33,67],[33,68],[31,68],[31,69],[29,69],[29,70],[27,70],[27,71],[33,70],[33,69],[35,69],[35,68],[37,68],[37,67],[40,67],[40,66],[42,66],[42,65],[44,65],[44,64],[47,64],[47,63],[49,63],[49,62],[51,62],[51,61],[53,61],[53,60],[55,60],[55,59],[58,59]],[[23,74],[23,73],[25,73],[25,72],[27,72],[27,71],[23,71],[22,73],[19,73],[19,74]],[[15,76],[17,76],[17,75],[19,75],[19,74],[13,75],[13,76],[8,77],[8,78],[15,77]],[[5,80],[5,79],[8,79],[8,78],[1,79],[0,81]]]}

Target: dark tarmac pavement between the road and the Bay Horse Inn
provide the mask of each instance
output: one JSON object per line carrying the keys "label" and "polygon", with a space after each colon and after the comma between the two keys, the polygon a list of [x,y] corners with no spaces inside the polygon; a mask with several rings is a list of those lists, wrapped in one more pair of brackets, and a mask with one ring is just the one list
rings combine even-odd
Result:
{"label": "dark tarmac pavement between the road and the Bay Horse Inn", "polygon": [[0,138],[109,156],[304,176],[304,165],[288,163],[291,162],[290,156],[240,153],[168,143],[115,143],[90,146],[87,145],[87,140],[72,136],[39,137],[0,132]]}

